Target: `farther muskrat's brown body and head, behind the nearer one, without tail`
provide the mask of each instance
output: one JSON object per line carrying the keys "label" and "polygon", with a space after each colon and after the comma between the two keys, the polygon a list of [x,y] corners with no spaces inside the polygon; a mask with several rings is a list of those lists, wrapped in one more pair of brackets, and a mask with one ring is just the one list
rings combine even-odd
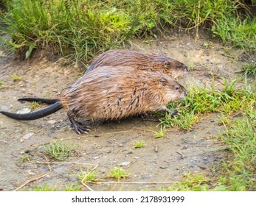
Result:
{"label": "farther muskrat's brown body and head, behind the nearer one, without tail", "polygon": [[131,66],[137,70],[162,71],[174,79],[186,74],[188,71],[184,63],[164,54],[146,54],[141,51],[113,49],[103,52],[103,54],[92,60],[86,73],[105,65]]}

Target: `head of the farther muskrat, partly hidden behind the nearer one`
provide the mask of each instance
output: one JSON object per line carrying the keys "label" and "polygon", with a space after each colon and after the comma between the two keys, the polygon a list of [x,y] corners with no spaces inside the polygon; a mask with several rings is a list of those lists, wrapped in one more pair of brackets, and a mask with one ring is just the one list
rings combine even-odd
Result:
{"label": "head of the farther muskrat, partly hidden behind the nearer one", "polygon": [[179,62],[178,60],[167,60],[164,63],[165,69],[168,74],[174,79],[187,73],[187,65]]}

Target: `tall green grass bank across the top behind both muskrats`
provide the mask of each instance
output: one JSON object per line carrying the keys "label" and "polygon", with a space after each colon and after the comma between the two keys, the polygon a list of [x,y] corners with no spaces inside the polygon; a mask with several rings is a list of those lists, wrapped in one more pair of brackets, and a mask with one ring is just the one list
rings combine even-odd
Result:
{"label": "tall green grass bank across the top behind both muskrats", "polygon": [[[34,49],[88,62],[95,54],[122,47],[132,38],[164,34],[169,26],[212,30],[213,36],[244,49],[256,50],[256,18],[243,1],[5,1],[0,33],[5,47],[30,57]],[[238,12],[241,11],[241,13]],[[6,36],[7,37],[7,36]]]}

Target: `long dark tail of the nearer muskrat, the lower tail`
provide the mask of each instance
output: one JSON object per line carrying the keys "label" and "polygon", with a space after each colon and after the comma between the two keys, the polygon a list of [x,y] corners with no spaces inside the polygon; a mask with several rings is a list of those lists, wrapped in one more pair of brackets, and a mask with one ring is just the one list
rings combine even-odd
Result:
{"label": "long dark tail of the nearer muskrat, the lower tail", "polygon": [[16,113],[9,113],[9,112],[4,112],[0,111],[3,115],[14,118],[17,120],[24,120],[24,121],[29,121],[29,120],[35,120],[38,118],[43,118],[45,116],[49,116],[52,113],[57,112],[63,107],[63,105],[60,102],[55,102],[54,104],[50,105],[49,107],[46,107],[42,110],[38,110],[32,113],[27,113],[27,114],[16,114]]}

